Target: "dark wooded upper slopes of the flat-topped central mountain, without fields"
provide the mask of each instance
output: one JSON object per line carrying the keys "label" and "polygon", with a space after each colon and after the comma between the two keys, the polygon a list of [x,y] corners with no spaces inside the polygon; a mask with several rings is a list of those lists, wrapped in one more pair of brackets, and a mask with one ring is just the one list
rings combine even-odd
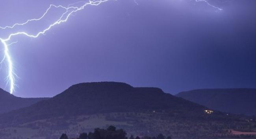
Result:
{"label": "dark wooded upper slopes of the flat-topped central mountain, without fields", "polygon": [[120,82],[76,84],[55,97],[0,115],[0,123],[23,123],[63,115],[171,110],[203,113],[204,106],[164,93]]}

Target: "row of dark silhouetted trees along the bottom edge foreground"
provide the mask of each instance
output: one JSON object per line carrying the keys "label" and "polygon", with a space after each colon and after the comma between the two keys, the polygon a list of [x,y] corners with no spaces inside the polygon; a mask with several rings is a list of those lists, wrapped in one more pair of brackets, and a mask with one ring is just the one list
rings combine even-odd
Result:
{"label": "row of dark silhouetted trees along the bottom edge foreground", "polygon": [[[123,129],[116,129],[115,126],[109,126],[107,129],[95,128],[94,132],[82,133],[78,138],[70,139],[172,139],[171,136],[165,137],[163,134],[158,134],[156,137],[130,137],[126,136],[126,132]],[[67,134],[62,134],[59,139],[69,139]]]}

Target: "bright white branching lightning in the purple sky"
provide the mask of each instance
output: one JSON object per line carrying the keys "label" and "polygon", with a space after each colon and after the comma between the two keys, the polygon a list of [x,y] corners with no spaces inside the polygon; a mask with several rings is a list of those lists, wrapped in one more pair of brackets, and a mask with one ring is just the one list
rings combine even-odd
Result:
{"label": "bright white branching lightning in the purple sky", "polygon": [[[14,68],[13,68],[13,61],[12,61],[12,58],[11,58],[11,55],[9,53],[9,46],[13,43],[16,43],[16,42],[13,42],[11,44],[7,44],[12,37],[15,37],[17,35],[24,35],[24,36],[27,36],[27,37],[31,37],[31,38],[37,38],[39,37],[40,35],[43,35],[45,34],[47,31],[49,31],[53,26],[55,25],[58,25],[58,24],[61,24],[63,22],[67,22],[67,20],[69,19],[69,17],[84,9],[85,6],[87,5],[94,5],[94,6],[97,6],[97,5],[100,5],[104,2],[107,2],[109,0],[95,0],[95,1],[89,1],[89,2],[76,2],[74,4],[69,4],[68,7],[65,7],[65,6],[62,6],[62,5],[53,5],[51,4],[48,9],[46,9],[45,13],[43,13],[43,15],[39,18],[34,18],[34,19],[29,19],[27,20],[26,22],[23,22],[23,23],[15,23],[13,24],[12,26],[5,26],[5,27],[0,27],[0,29],[13,29],[15,28],[16,26],[24,26],[26,24],[28,24],[29,22],[32,22],[32,21],[39,21],[41,19],[43,19],[47,13],[50,11],[50,9],[52,8],[62,8],[62,9],[65,9],[65,12],[59,17],[59,19],[57,21],[55,21],[53,24],[50,24],[48,27],[46,27],[44,30],[36,33],[36,34],[30,34],[30,33],[27,33],[25,31],[22,31],[22,32],[16,32],[16,33],[11,33],[8,35],[7,38],[0,38],[0,42],[2,43],[2,45],[4,46],[4,57],[3,59],[0,61],[0,64],[2,64],[4,61],[7,62],[7,84],[9,84],[10,88],[9,88],[9,92],[12,94],[13,91],[15,90],[15,79],[16,77],[18,77],[15,72],[14,72]],[[208,4],[209,6],[215,8],[215,9],[218,9],[220,11],[222,11],[221,8],[219,7],[215,7],[214,5],[211,5],[209,2],[207,2],[206,0],[195,0],[196,2],[206,2],[206,4]],[[135,4],[138,4],[136,0],[134,0]],[[79,4],[79,3],[83,3],[82,6],[80,7],[75,7],[75,6],[72,6],[72,5],[75,5],[75,4]]]}

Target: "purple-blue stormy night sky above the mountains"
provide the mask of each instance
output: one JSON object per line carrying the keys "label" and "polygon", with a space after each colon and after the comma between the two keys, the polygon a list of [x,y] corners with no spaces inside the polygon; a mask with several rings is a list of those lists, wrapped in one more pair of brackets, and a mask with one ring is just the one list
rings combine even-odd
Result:
{"label": "purple-blue stormy night sky above the mountains", "polygon": [[[41,16],[50,4],[78,0],[1,0],[0,26]],[[80,82],[117,81],[167,93],[256,88],[256,1],[109,0],[88,6],[38,38],[14,37],[14,95],[52,97]],[[0,30],[36,33],[61,13]],[[2,45],[0,45],[2,48]],[[3,57],[3,49],[0,49]],[[0,87],[6,86],[6,64]]]}

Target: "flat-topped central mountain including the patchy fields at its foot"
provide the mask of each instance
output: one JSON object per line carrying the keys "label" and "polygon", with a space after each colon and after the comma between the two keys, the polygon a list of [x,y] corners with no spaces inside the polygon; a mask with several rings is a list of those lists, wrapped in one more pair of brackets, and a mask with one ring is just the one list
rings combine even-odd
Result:
{"label": "flat-topped central mountain including the patchy fields at its foot", "polygon": [[174,139],[215,139],[235,138],[232,131],[237,128],[254,132],[256,121],[213,111],[160,88],[91,82],[1,114],[0,139],[56,139],[64,132],[76,137],[108,125],[123,128],[128,135],[163,133]]}

